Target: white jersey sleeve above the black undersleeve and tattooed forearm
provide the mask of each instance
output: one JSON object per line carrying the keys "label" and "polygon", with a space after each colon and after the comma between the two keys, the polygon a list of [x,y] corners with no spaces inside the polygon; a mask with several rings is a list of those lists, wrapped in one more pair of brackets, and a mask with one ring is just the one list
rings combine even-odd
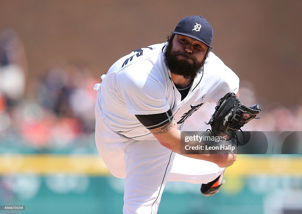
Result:
{"label": "white jersey sleeve above the black undersleeve and tattooed forearm", "polygon": [[164,85],[150,73],[136,70],[120,72],[116,84],[129,114],[157,114],[170,109]]}

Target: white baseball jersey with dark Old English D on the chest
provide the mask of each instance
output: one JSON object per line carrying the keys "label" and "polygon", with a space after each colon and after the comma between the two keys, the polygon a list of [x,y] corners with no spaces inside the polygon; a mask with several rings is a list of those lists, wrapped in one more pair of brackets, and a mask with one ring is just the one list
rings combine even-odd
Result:
{"label": "white baseball jersey with dark Old English D on the chest", "polygon": [[[124,136],[136,140],[153,138],[135,114],[157,114],[172,110],[179,129],[186,119],[198,112],[206,102],[218,102],[227,92],[235,94],[239,78],[214,53],[210,52],[204,70],[193,81],[188,95],[181,100],[169,69],[163,61],[167,43],[134,50],[120,58],[109,69],[102,83],[100,102],[102,115],[109,126]],[[213,109],[214,112],[214,109]],[[200,123],[200,121],[198,121]],[[186,127],[196,131],[196,127]]]}

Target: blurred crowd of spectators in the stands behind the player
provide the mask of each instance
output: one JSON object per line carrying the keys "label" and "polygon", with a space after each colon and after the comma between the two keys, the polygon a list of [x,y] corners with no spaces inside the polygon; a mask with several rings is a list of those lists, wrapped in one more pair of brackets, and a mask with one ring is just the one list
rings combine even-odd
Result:
{"label": "blurred crowd of spectators in the stands behind the player", "polygon": [[[84,63],[66,63],[41,71],[27,85],[26,50],[12,29],[0,32],[0,152],[4,148],[31,148],[51,152],[94,146],[96,92],[99,79]],[[250,83],[240,88],[244,104],[257,103]],[[29,92],[28,92],[29,91]],[[28,96],[28,93],[30,96]],[[252,131],[301,131],[302,106],[294,109],[261,106],[261,120],[249,123]],[[201,108],[210,115],[214,108]]]}

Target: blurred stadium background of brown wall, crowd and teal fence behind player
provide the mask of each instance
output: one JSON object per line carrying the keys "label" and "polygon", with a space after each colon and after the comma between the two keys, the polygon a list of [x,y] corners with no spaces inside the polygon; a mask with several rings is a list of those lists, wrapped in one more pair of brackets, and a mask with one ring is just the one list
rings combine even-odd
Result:
{"label": "blurred stadium background of brown wall, crowd and teal fence behind player", "polygon": [[[93,85],[116,59],[165,41],[188,15],[210,21],[213,51],[239,76],[243,103],[264,109],[245,128],[302,131],[301,6],[0,0],[0,205],[121,213],[124,180],[108,173],[95,147]],[[203,111],[208,120],[213,108]],[[302,213],[301,176],[301,155],[239,155],[219,194],[170,182],[159,213]]]}

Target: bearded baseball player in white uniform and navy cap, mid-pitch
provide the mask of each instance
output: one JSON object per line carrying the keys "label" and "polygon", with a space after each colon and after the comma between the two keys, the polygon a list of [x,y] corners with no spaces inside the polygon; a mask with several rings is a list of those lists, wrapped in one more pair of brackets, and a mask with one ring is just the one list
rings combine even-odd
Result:
{"label": "bearded baseball player in white uniform and navy cap, mid-pitch", "polygon": [[[167,181],[199,183],[213,195],[236,160],[233,153],[180,154],[181,133],[209,119],[198,109],[236,96],[239,78],[211,52],[213,29],[202,16],[183,18],[167,39],[118,59],[94,87],[96,145],[110,172],[125,178],[124,213],[157,213]],[[220,123],[213,118],[211,125]],[[249,120],[234,121],[227,125],[236,132]],[[226,131],[218,129],[212,134]]]}

